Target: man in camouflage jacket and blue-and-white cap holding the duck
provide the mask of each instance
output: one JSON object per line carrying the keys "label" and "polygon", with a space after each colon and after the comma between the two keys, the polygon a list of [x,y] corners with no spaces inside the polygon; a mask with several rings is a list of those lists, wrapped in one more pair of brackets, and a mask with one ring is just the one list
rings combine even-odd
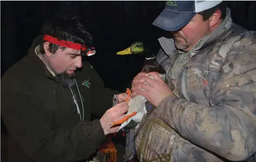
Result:
{"label": "man in camouflage jacket and blue-and-white cap holding the duck", "polygon": [[153,24],[173,34],[159,38],[157,55],[168,85],[139,73],[133,95],[156,105],[157,116],[176,131],[171,161],[256,161],[256,32],[232,23],[222,3],[191,12],[187,22],[182,14],[188,13],[170,18],[189,5],[199,10],[197,3],[205,2],[166,2]]}

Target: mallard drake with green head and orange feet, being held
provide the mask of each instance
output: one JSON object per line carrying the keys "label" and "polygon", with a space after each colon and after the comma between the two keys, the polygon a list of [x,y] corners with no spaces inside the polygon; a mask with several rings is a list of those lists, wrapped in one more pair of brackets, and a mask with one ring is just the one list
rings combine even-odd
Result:
{"label": "mallard drake with green head and orange feet, being held", "polygon": [[[150,54],[150,51],[144,47],[144,44],[142,42],[133,43],[131,46],[129,46],[125,50],[117,52],[117,54],[118,55],[144,54],[145,61],[144,61],[142,72],[145,72],[145,73],[157,72],[161,77],[161,79],[165,80],[165,76],[166,76],[165,69],[158,64],[156,60],[156,55]],[[128,95],[131,94],[131,91],[129,88],[127,88],[126,93]],[[137,125],[142,121],[143,116],[153,106],[149,101],[146,100],[145,97],[140,95],[137,95],[136,97],[132,98],[130,101],[128,99],[126,101],[128,102],[128,105],[129,105],[129,110],[127,111],[126,116],[120,121],[114,121],[112,123],[112,125],[122,124],[119,130],[123,129],[124,127],[127,129],[133,128],[135,125]]]}

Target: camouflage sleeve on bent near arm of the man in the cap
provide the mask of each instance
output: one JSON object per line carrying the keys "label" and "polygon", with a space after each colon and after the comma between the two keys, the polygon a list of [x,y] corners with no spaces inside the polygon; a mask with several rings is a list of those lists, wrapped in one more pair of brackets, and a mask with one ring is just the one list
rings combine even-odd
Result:
{"label": "camouflage sleeve on bent near arm of the man in the cap", "polygon": [[[254,39],[255,40],[255,39]],[[190,142],[228,160],[247,160],[256,151],[256,43],[239,41],[227,53],[211,88],[211,106],[167,96],[160,119]]]}

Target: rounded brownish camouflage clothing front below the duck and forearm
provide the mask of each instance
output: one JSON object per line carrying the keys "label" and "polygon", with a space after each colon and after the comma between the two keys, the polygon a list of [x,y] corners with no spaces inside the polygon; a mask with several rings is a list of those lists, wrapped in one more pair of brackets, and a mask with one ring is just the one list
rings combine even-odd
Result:
{"label": "rounded brownish camouflage clothing front below the duck and forearm", "polygon": [[148,119],[135,138],[138,158],[143,161],[170,161],[176,132],[159,118]]}

